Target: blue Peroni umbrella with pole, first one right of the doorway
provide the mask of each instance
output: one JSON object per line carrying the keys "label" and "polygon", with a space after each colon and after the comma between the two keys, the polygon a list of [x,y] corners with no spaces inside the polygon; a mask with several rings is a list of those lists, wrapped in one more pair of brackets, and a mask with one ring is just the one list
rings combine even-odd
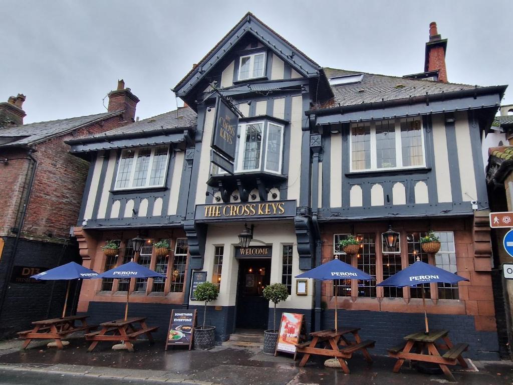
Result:
{"label": "blue Peroni umbrella with pole, first one right of the doorway", "polygon": [[[370,281],[374,278],[365,272],[353,267],[345,262],[338,260],[337,258],[332,261],[323,263],[320,266],[314,267],[306,273],[302,273],[295,278],[313,278],[320,279],[323,281],[335,280],[335,279],[359,279]],[[338,315],[337,315],[337,297],[338,297],[338,286],[335,286],[335,330],[338,330]]]}

